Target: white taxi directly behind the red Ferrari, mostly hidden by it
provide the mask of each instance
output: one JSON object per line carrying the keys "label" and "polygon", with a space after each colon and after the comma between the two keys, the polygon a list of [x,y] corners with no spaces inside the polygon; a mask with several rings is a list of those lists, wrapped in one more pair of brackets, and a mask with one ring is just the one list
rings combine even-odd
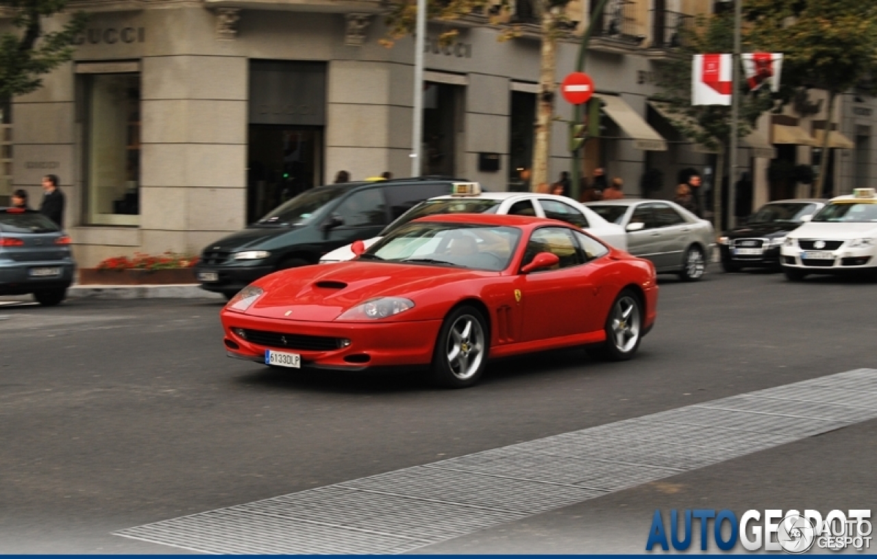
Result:
{"label": "white taxi directly behind the red Ferrari, mostly hidden by it", "polygon": [[[363,241],[366,248],[381,240],[381,237],[418,217],[437,214],[508,214],[511,216],[550,217],[572,223],[588,230],[588,233],[601,238],[617,249],[627,250],[627,236],[624,228],[609,223],[593,210],[586,208],[571,198],[558,195],[545,195],[535,192],[480,192],[472,194],[437,196],[420,202],[409,209],[396,221],[381,231],[381,236]],[[353,259],[351,245],[347,244],[320,258],[320,264],[343,262]]]}

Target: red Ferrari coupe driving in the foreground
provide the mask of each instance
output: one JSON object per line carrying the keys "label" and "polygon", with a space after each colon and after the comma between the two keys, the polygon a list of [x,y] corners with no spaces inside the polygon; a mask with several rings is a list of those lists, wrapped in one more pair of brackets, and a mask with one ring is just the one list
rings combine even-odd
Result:
{"label": "red Ferrari coupe driving in the foreground", "polygon": [[242,290],[222,311],[228,355],[348,371],[429,365],[461,388],[488,357],[585,345],[629,359],[655,321],[650,262],[550,219],[429,216],[354,251]]}

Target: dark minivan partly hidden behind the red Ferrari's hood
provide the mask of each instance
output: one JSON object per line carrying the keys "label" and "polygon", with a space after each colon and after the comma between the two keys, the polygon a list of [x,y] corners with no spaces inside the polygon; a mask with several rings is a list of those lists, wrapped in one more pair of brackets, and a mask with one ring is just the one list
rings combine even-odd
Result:
{"label": "dark minivan partly hidden behind the red Ferrari's hood", "polygon": [[231,298],[271,272],[317,264],[326,252],[376,236],[417,203],[451,194],[460,181],[417,177],[311,188],[245,230],[210,243],[196,277],[203,289]]}

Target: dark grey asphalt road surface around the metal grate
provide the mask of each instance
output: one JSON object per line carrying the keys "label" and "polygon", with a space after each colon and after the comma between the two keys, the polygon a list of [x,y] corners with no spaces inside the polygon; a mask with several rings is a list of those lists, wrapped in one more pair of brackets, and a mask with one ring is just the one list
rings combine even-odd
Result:
{"label": "dark grey asphalt road surface around the metal grate", "polygon": [[[111,533],[877,368],[875,284],[714,270],[660,285],[633,361],[550,352],[462,391],[228,359],[217,301],[4,298],[0,553],[185,553]],[[865,421],[418,553],[638,553],[655,508],[877,508],[874,440]]]}

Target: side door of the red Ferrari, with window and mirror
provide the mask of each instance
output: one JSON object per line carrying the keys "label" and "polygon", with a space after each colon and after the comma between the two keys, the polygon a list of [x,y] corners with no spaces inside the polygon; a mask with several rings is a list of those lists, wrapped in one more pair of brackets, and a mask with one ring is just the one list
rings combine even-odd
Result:
{"label": "side door of the red Ferrari, with window and mirror", "polygon": [[[560,264],[551,270],[521,273],[515,281],[523,316],[522,342],[573,336],[587,330],[587,312],[594,294],[584,258],[567,227],[533,231],[521,265],[539,252],[551,252]],[[517,298],[517,297],[516,297]]]}

